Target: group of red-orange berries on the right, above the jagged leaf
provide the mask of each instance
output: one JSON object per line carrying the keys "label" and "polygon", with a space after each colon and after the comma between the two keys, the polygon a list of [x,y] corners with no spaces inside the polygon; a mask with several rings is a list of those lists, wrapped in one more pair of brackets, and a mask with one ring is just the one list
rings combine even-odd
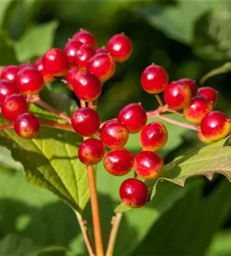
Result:
{"label": "group of red-orange berries on the right, above the jagged leaf", "polygon": [[182,78],[168,83],[168,74],[160,66],[148,66],[141,77],[144,90],[151,94],[164,92],[167,107],[182,111],[184,118],[200,124],[198,138],[211,143],[225,137],[230,131],[230,120],[220,111],[213,111],[217,91],[212,87],[197,88],[196,82]]}

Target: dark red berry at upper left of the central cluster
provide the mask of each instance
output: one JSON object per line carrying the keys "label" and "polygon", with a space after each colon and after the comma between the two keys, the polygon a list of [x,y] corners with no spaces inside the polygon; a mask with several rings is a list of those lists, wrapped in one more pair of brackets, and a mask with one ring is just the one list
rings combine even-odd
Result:
{"label": "dark red berry at upper left of the central cluster", "polygon": [[90,108],[80,108],[72,113],[72,127],[81,136],[89,137],[100,128],[98,113]]}

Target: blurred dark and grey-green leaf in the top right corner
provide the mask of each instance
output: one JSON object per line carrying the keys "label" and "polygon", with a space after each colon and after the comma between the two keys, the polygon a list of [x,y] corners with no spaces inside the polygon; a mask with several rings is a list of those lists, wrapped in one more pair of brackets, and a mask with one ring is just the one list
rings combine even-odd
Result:
{"label": "blurred dark and grey-green leaf in the top right corner", "polygon": [[231,58],[231,5],[215,1],[213,7],[195,23],[193,49],[202,58],[227,60]]}

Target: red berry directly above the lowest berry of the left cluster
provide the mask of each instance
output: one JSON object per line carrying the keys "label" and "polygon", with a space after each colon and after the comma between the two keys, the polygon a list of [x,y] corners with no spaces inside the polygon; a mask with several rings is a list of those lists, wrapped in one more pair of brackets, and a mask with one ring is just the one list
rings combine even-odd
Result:
{"label": "red berry directly above the lowest berry of the left cluster", "polygon": [[27,111],[27,101],[20,94],[11,94],[3,101],[2,113],[8,121],[15,121],[19,115]]}

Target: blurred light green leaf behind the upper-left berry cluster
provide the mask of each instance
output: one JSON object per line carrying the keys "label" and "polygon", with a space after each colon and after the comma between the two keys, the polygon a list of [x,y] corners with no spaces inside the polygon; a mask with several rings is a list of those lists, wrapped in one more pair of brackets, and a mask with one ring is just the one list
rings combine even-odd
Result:
{"label": "blurred light green leaf behind the upper-left berry cluster", "polygon": [[17,59],[24,62],[44,54],[53,45],[57,27],[57,21],[31,27],[15,44]]}

